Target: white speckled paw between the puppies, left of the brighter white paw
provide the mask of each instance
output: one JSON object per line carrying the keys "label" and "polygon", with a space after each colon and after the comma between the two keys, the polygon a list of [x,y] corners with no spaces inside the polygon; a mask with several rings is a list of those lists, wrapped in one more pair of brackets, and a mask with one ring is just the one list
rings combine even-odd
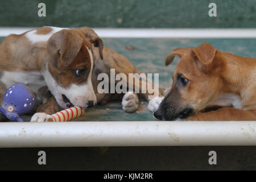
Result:
{"label": "white speckled paw between the puppies, left of the brighter white paw", "polygon": [[138,109],[139,98],[133,92],[127,92],[122,99],[122,107],[127,113],[133,113]]}

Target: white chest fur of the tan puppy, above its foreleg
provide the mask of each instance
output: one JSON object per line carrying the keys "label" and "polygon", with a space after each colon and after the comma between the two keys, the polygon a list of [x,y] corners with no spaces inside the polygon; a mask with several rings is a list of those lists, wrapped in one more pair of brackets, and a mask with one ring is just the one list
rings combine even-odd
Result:
{"label": "white chest fur of the tan puppy, above its foreleg", "polygon": [[242,109],[242,104],[241,104],[241,98],[233,93],[226,93],[212,102],[210,102],[207,106],[233,106],[234,108],[237,109]]}

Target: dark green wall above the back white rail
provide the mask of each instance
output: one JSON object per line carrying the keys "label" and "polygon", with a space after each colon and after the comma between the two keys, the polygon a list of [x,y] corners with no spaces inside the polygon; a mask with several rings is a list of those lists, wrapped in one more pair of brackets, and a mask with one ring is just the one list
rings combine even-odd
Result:
{"label": "dark green wall above the back white rail", "polygon": [[[208,16],[210,2],[217,17]],[[255,0],[0,0],[0,26],[255,28],[255,9]]]}

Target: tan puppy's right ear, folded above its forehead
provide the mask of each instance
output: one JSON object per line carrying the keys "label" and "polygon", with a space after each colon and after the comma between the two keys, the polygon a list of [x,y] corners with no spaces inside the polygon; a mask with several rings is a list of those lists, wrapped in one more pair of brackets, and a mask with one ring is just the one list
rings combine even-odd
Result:
{"label": "tan puppy's right ear, folded above its forehead", "polygon": [[205,42],[197,48],[192,48],[193,53],[198,60],[196,60],[197,67],[205,72],[218,72],[223,67],[224,61],[221,56],[217,56],[218,50]]}

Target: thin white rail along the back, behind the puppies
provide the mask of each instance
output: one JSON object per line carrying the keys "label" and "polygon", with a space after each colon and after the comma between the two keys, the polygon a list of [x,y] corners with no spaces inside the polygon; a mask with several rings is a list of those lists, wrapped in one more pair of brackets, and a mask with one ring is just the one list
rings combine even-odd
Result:
{"label": "thin white rail along the back, behind the puppies", "polygon": [[[35,28],[35,27],[34,27]],[[31,27],[0,27],[0,36]],[[93,28],[101,38],[256,38],[256,28]]]}

